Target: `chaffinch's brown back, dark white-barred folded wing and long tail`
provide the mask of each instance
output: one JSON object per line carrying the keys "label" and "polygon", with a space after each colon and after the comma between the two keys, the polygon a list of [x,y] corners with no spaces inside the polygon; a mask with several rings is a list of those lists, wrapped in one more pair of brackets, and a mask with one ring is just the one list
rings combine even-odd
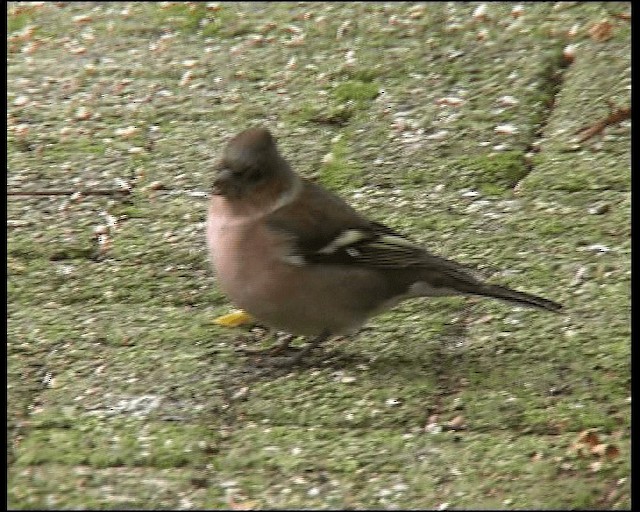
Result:
{"label": "chaffinch's brown back, dark white-barred folded wing and long tail", "polygon": [[[292,203],[267,218],[289,239],[283,260],[292,265],[348,265],[387,269],[398,294],[420,282],[424,295],[485,295],[558,312],[556,302],[492,285],[464,265],[431,254],[397,231],[364,218],[338,196],[307,183]],[[406,270],[407,272],[403,272]]]}

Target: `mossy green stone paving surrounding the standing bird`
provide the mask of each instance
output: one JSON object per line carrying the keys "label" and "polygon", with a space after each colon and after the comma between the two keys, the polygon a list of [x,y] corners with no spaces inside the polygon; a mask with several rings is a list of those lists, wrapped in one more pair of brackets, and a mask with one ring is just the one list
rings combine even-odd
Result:
{"label": "mossy green stone paving surrounding the standing bird", "polygon": [[[630,23],[610,18],[605,43],[579,35],[588,44],[554,89],[566,31],[602,19],[602,4],[527,3],[524,24],[506,3],[488,4],[485,23],[466,4],[132,2],[124,15],[103,4],[20,3],[10,16],[13,5],[28,19],[11,28],[39,26],[41,44],[9,45],[8,186],[143,177],[126,198],[86,196],[67,208],[63,197],[8,197],[7,217],[18,221],[7,233],[11,508],[217,509],[230,506],[228,496],[267,509],[629,507],[628,123],[579,149],[568,141],[607,115],[603,94],[627,104],[621,35]],[[612,14],[628,9],[610,5]],[[87,13],[91,20],[74,22]],[[283,47],[290,25],[306,37]],[[85,39],[90,29],[95,38]],[[266,39],[245,45],[245,33]],[[65,37],[87,53],[53,44]],[[353,67],[344,65],[350,48]],[[92,55],[111,59],[96,59],[88,77]],[[191,58],[200,64],[181,86]],[[282,80],[286,93],[262,80]],[[388,91],[383,101],[372,101],[373,85]],[[23,94],[33,101],[14,105]],[[507,94],[520,103],[502,109]],[[466,102],[434,101],[452,95]],[[73,121],[77,135],[61,141],[80,104],[97,115]],[[427,137],[396,131],[399,112]],[[357,336],[328,341],[309,366],[264,368],[236,353],[249,329],[212,325],[233,306],[207,261],[206,201],[143,189],[158,180],[206,190],[228,137],[258,121],[305,173],[327,151],[317,142],[342,135],[333,161],[317,166],[320,181],[434,253],[562,301],[567,314],[416,299]],[[18,123],[29,125],[24,143]],[[493,134],[499,123],[520,131]],[[517,202],[467,210],[459,188],[506,195],[518,152],[543,123]],[[148,141],[142,133],[114,138],[132,124],[159,127],[148,153],[127,153]],[[450,136],[428,137],[441,129]],[[511,162],[481,154],[483,143],[504,141]],[[589,215],[600,202],[609,210]],[[104,258],[90,260],[101,211],[126,220]],[[611,251],[583,250],[594,243]],[[147,394],[161,397],[149,415],[119,408]],[[443,426],[462,415],[467,428],[425,432],[433,414]],[[591,426],[620,457],[597,472],[589,468],[597,459],[570,458],[566,470],[568,448]]]}

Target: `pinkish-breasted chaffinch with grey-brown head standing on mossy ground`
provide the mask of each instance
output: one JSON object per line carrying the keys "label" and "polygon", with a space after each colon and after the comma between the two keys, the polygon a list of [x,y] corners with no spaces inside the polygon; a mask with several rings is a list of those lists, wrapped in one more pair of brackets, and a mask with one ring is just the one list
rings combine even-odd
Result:
{"label": "pinkish-breasted chaffinch with grey-brown head standing on mossy ground", "polygon": [[232,302],[266,325],[315,339],[423,296],[482,295],[559,312],[542,297],[485,283],[365,218],[337,195],[298,176],[268,130],[228,143],[212,189],[207,242],[217,281]]}

